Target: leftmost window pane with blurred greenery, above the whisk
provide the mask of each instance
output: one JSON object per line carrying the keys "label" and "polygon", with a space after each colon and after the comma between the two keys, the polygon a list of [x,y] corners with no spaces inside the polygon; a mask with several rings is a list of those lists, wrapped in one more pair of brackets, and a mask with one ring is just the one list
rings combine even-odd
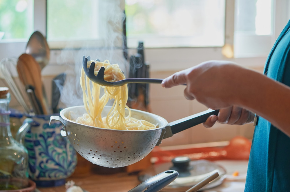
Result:
{"label": "leftmost window pane with blurred greenery, above the whisk", "polygon": [[33,32],[33,0],[0,0],[1,32],[1,42],[27,41]]}

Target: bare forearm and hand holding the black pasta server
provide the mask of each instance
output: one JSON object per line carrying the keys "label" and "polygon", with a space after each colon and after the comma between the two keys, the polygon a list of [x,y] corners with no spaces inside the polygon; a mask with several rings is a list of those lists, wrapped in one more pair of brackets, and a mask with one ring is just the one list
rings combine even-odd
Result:
{"label": "bare forearm and hand holding the black pasta server", "polygon": [[[219,116],[220,119],[224,116],[222,121],[226,117],[229,121],[235,109],[240,108],[243,116],[240,115],[238,123],[231,119],[231,124],[252,122],[251,111],[290,136],[290,88],[282,83],[232,62],[206,61],[177,72],[162,82],[166,88],[183,84],[187,84],[184,90],[187,99],[196,99],[211,109],[220,109],[218,121]],[[210,118],[205,125],[211,125]]]}

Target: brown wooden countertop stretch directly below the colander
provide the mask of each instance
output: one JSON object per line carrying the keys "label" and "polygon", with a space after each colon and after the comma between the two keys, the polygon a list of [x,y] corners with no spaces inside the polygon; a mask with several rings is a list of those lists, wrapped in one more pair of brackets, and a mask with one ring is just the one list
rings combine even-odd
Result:
{"label": "brown wooden countertop stretch directly below the colander", "polygon": [[[73,180],[76,186],[88,192],[127,192],[140,184],[137,175],[129,175],[126,172],[109,175],[89,174],[84,177],[70,177],[67,181],[69,180]],[[64,185],[37,189],[41,192],[66,191]]]}

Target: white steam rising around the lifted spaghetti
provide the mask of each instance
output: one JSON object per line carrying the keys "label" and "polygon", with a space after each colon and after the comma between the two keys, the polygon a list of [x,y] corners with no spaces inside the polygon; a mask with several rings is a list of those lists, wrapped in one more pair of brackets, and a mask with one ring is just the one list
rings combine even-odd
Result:
{"label": "white steam rising around the lifted spaghetti", "polygon": [[[72,49],[76,47],[76,43],[69,42],[66,44],[66,48],[61,51],[57,58],[57,64],[65,64],[68,68],[66,70],[66,81],[61,92],[60,108],[84,105],[79,82],[84,55],[85,57],[90,56],[93,60],[100,59],[104,61],[108,59],[111,64],[117,63],[126,76],[128,64],[123,56],[122,49],[122,24],[125,15],[121,8],[122,5],[119,1],[99,1],[99,7],[96,11],[100,12],[98,14],[100,18],[98,26],[94,28],[97,28],[96,33],[99,33],[100,39],[84,42],[81,49]],[[88,14],[88,12],[83,14]],[[95,24],[92,23],[93,25]],[[80,29],[74,30],[77,33],[82,30],[91,30],[91,28],[88,26],[87,29],[80,27]]]}

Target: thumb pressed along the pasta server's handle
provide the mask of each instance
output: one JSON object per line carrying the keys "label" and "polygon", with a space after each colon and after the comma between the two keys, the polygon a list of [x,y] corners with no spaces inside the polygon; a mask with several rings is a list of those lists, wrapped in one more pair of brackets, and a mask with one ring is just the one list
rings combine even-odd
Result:
{"label": "thumb pressed along the pasta server's handle", "polygon": [[180,71],[163,79],[161,86],[165,88],[170,88],[176,85],[184,85],[184,84],[186,84],[186,75],[184,71]]}

